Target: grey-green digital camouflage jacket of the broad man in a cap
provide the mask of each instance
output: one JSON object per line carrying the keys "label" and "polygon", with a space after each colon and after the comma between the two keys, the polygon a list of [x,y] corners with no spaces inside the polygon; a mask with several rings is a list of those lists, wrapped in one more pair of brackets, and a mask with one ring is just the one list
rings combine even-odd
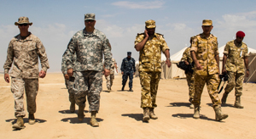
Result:
{"label": "grey-green digital camouflage jacket of the broad man in a cap", "polygon": [[[74,54],[77,55],[77,59],[73,63]],[[96,29],[91,34],[86,33],[84,28],[84,30],[78,31],[68,43],[65,55],[67,69],[102,71],[103,54],[106,62],[105,69],[110,69],[112,54],[107,37],[102,31]]]}

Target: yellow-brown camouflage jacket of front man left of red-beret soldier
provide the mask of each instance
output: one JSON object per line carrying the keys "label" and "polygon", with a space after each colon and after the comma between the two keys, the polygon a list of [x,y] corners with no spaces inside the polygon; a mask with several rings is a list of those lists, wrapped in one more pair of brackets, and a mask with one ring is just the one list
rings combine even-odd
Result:
{"label": "yellow-brown camouflage jacket of front man left of red-beret soldier", "polygon": [[196,69],[198,75],[213,75],[218,73],[218,63],[215,56],[218,55],[217,37],[212,34],[209,37],[203,34],[197,35],[192,40],[190,51],[195,51],[195,56],[202,69]]}

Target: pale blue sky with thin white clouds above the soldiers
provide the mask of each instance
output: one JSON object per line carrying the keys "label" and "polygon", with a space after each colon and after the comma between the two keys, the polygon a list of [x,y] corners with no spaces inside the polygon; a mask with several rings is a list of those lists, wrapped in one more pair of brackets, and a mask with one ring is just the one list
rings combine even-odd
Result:
{"label": "pale blue sky with thin white clouds above the soldiers", "polygon": [[256,49],[254,0],[0,0],[0,71],[9,41],[19,34],[14,24],[20,16],[30,19],[33,25],[29,31],[44,43],[50,65],[48,72],[59,72],[61,55],[73,34],[84,28],[87,13],[96,14],[96,29],[108,37],[119,67],[127,51],[138,59],[134,40],[137,33],[144,31],[148,19],[156,21],[156,32],[166,38],[171,55],[189,46],[190,36],[201,33],[202,19],[212,19],[212,34],[218,37],[218,47],[233,40],[236,31],[244,31],[244,42]]}

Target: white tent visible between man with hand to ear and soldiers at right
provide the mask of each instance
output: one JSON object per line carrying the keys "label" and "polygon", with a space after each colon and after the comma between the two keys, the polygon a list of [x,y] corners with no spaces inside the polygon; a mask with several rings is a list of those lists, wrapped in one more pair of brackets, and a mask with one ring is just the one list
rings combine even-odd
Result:
{"label": "white tent visible between man with hand to ear and soldiers at right", "polygon": [[187,47],[183,47],[183,49],[181,49],[180,51],[178,51],[177,53],[175,53],[171,56],[171,62],[172,62],[171,68],[167,67],[166,55],[162,53],[162,55],[161,55],[161,60],[162,60],[161,79],[185,78],[186,77],[184,70],[177,68],[177,63],[183,57],[183,52],[186,50],[186,48]]}

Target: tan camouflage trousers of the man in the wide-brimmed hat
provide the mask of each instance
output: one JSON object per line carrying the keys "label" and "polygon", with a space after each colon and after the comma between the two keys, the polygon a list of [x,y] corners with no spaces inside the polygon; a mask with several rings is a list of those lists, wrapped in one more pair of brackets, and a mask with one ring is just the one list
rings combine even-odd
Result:
{"label": "tan camouflage trousers of the man in the wide-brimmed hat", "polygon": [[29,114],[36,113],[36,97],[38,94],[38,79],[22,79],[12,77],[11,92],[15,97],[15,117],[24,117],[24,89],[26,92],[26,107]]}

